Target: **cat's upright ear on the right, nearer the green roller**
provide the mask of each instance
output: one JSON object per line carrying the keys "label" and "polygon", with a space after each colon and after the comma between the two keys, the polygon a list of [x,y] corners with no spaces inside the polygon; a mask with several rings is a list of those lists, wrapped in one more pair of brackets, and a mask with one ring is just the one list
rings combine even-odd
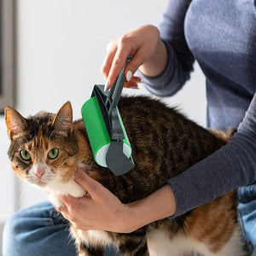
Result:
{"label": "cat's upright ear on the right, nearer the green roller", "polygon": [[70,102],[66,102],[55,114],[53,125],[58,131],[66,133],[73,131],[73,110]]}

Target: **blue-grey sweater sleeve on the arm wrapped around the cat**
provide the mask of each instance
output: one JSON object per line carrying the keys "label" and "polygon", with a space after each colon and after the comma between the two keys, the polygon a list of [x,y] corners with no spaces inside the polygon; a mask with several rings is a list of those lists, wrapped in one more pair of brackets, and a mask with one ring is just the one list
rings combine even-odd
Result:
{"label": "blue-grey sweater sleeve on the arm wrapped around the cat", "polygon": [[172,218],[255,182],[255,156],[256,94],[230,143],[168,181],[177,205]]}

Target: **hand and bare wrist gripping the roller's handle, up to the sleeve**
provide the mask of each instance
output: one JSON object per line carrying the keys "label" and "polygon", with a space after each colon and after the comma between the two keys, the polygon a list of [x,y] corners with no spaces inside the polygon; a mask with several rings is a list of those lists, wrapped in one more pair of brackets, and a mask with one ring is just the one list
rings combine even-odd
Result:
{"label": "hand and bare wrist gripping the roller's handle, up to the sleeve", "polygon": [[128,55],[131,61],[125,67],[126,87],[137,87],[138,77],[133,77],[138,67],[148,76],[156,76],[166,67],[166,46],[160,40],[160,32],[152,25],[139,26],[108,44],[107,55],[102,64],[102,74],[108,90],[118,77]]}

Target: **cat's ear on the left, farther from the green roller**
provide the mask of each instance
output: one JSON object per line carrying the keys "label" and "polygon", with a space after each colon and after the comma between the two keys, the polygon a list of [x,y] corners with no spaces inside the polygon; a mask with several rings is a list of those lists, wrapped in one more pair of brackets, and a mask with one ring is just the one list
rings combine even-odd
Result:
{"label": "cat's ear on the left, farther from the green roller", "polygon": [[4,117],[7,134],[10,139],[14,139],[26,132],[26,120],[15,108],[6,107],[4,109]]}

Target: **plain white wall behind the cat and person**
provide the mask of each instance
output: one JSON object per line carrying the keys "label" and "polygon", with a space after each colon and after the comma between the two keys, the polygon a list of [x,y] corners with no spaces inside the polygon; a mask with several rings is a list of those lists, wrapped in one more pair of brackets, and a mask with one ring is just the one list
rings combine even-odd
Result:
{"label": "plain white wall behind the cat and person", "polygon": [[[18,2],[18,1],[17,1]],[[17,108],[26,115],[39,110],[55,112],[66,101],[73,104],[74,117],[90,97],[94,84],[104,84],[102,61],[108,42],[146,23],[158,25],[167,0],[20,0],[17,5]],[[128,94],[147,93],[125,90]],[[191,81],[165,101],[205,124],[204,78],[196,66]],[[0,119],[0,204],[7,218],[15,207],[43,201],[33,188],[20,189],[14,182],[6,156],[8,139]],[[22,186],[24,186],[22,184]],[[21,186],[21,187],[22,187]],[[15,196],[14,196],[15,194]],[[2,207],[1,207],[2,208]]]}

